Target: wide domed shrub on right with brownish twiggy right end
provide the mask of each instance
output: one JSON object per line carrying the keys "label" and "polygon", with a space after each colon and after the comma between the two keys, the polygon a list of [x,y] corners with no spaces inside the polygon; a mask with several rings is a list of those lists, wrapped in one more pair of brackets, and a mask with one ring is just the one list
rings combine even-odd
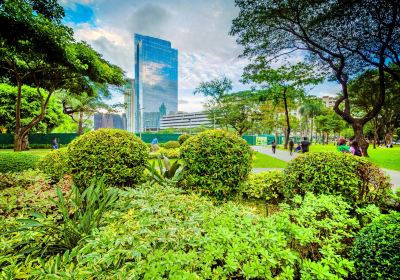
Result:
{"label": "wide domed shrub on right with brownish twiggy right end", "polygon": [[351,205],[386,205],[391,184],[375,164],[351,154],[307,153],[284,170],[285,198],[306,192],[342,195]]}

